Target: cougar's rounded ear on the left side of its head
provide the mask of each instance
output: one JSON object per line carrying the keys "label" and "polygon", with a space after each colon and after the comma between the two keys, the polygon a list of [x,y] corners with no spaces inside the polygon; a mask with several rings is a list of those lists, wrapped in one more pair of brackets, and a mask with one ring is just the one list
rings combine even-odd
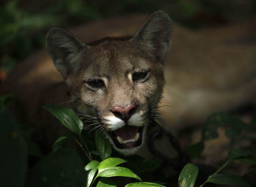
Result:
{"label": "cougar's rounded ear on the left side of its head", "polygon": [[87,48],[87,45],[69,31],[54,27],[46,35],[46,48],[54,65],[65,79],[70,72],[75,71],[76,57],[82,49]]}

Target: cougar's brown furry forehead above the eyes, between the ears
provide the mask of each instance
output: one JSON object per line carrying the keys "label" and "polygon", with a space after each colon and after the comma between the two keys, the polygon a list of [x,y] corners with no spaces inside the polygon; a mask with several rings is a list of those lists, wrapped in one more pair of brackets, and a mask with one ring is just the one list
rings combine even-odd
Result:
{"label": "cougar's brown furry forehead above the eyes, between the ears", "polygon": [[150,63],[139,46],[132,46],[129,41],[105,41],[91,46],[90,54],[84,56],[84,75],[112,76],[126,75],[136,69],[147,69]]}

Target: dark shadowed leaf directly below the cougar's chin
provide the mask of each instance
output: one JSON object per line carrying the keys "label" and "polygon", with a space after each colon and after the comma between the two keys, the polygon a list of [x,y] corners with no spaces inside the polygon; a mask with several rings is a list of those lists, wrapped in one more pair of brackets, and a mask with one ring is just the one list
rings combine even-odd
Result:
{"label": "dark shadowed leaf directly below the cougar's chin", "polygon": [[127,163],[125,163],[123,166],[129,168],[136,174],[152,171],[159,168],[158,163],[154,162],[153,160],[145,159],[138,155],[124,157],[124,159],[127,160]]}

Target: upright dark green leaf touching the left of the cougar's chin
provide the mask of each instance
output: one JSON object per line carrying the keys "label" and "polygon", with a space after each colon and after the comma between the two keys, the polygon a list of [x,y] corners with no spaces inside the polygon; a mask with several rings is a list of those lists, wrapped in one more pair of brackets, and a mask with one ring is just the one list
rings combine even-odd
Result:
{"label": "upright dark green leaf touching the left of the cougar's chin", "polygon": [[111,155],[112,149],[108,139],[103,138],[99,133],[95,136],[95,144],[102,160],[105,160]]}

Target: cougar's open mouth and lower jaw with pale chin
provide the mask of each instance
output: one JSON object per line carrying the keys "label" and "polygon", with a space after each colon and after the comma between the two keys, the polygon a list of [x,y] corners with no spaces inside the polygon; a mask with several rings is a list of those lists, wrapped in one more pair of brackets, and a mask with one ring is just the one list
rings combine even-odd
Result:
{"label": "cougar's open mouth and lower jaw with pale chin", "polygon": [[135,154],[144,144],[145,126],[123,126],[114,131],[106,131],[105,134],[109,138],[114,149],[124,155]]}

